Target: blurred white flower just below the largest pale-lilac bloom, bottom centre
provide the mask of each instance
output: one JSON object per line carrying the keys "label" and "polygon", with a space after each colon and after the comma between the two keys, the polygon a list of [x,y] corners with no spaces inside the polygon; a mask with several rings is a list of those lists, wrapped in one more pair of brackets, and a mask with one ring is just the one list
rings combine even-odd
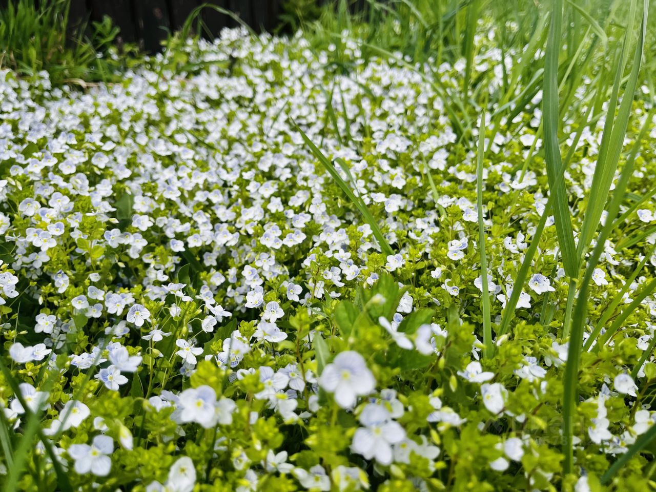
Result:
{"label": "blurred white flower just below the largest pale-lilac bloom, bottom centre", "polygon": [[390,413],[382,407],[369,403],[359,420],[365,427],[356,430],[351,443],[354,453],[365,459],[375,458],[380,464],[392,463],[392,444],[405,439],[405,430],[398,422],[390,419]]}

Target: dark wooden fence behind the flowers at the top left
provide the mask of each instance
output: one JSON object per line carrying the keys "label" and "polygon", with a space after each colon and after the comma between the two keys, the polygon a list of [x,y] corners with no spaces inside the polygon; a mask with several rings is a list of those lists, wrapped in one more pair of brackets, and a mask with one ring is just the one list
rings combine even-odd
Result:
{"label": "dark wooden fence behind the flowers at the top left", "polygon": [[[5,0],[6,1],[6,0]],[[41,0],[44,1],[44,0]],[[47,0],[46,0],[47,1]],[[283,0],[70,0],[69,18],[73,24],[81,20],[100,21],[108,15],[121,29],[125,43],[138,43],[147,52],[159,51],[159,42],[167,34],[182,27],[190,12],[203,3],[216,5],[239,15],[256,31],[273,30],[279,22]],[[5,3],[0,1],[0,3]],[[203,9],[203,22],[209,33],[218,35],[237,22],[215,9]]]}

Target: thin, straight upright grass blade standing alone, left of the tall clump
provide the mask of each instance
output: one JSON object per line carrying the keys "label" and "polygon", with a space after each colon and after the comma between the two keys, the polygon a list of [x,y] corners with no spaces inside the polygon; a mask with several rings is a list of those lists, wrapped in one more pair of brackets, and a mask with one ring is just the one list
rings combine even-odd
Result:
{"label": "thin, straight upright grass blade standing alone, left of the tall clump", "polygon": [[481,124],[478,129],[478,163],[476,165],[476,194],[478,208],[478,252],[481,261],[482,305],[483,305],[483,355],[491,358],[494,355],[492,343],[492,321],[490,319],[490,295],[487,285],[487,256],[485,255],[485,222],[483,222],[483,157],[485,154],[485,111],[481,113]]}

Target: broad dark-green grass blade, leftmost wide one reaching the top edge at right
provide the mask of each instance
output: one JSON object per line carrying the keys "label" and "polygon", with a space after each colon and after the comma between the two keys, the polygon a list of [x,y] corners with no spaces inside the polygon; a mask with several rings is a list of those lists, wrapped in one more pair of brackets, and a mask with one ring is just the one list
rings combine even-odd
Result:
{"label": "broad dark-green grass blade, leftmost wide one reaching the top edge at right", "polygon": [[549,36],[544,55],[544,159],[551,193],[556,195],[554,201],[554,221],[558,244],[562,255],[565,274],[570,278],[578,276],[578,262],[574,245],[574,233],[567,203],[565,178],[558,175],[562,167],[562,157],[558,146],[558,53],[560,52],[560,25],[563,17],[563,1],[554,0]]}

